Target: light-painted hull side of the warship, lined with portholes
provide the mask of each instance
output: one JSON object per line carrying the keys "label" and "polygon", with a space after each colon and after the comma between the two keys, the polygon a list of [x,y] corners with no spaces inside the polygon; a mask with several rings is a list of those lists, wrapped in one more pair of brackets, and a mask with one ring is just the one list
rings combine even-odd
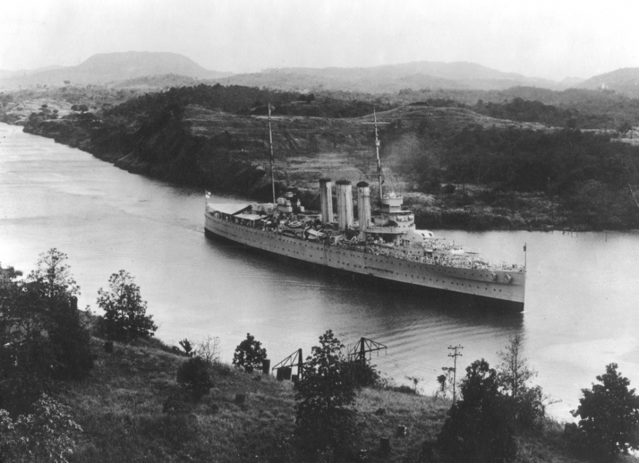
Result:
{"label": "light-painted hull side of the warship, lined with portholes", "polygon": [[239,225],[209,213],[205,214],[204,231],[207,235],[331,270],[480,296],[519,308],[524,305],[525,272],[450,267],[376,255]]}

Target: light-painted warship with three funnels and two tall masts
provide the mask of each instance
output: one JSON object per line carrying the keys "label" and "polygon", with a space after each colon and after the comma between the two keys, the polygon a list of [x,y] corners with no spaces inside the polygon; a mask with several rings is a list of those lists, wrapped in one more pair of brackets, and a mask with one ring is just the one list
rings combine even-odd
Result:
{"label": "light-painted warship with three funnels and two tall masts", "polygon": [[[321,211],[309,211],[292,192],[275,197],[273,142],[269,106],[269,146],[273,201],[210,202],[207,192],[204,231],[251,248],[340,270],[524,307],[526,265],[490,263],[478,253],[415,227],[414,214],[403,208],[403,197],[384,187],[379,158],[378,122],[374,113],[376,180],[379,209],[371,207],[371,185],[319,179]],[[525,246],[524,246],[525,252]]]}

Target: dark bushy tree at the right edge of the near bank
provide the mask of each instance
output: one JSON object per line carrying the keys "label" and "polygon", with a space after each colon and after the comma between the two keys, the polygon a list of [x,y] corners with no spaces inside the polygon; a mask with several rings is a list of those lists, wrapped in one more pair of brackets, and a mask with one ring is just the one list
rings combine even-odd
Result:
{"label": "dark bushy tree at the right edge of the near bank", "polygon": [[617,363],[610,363],[597,377],[602,384],[582,389],[584,397],[572,412],[581,418],[578,430],[585,434],[586,445],[601,455],[639,449],[639,397],[617,368]]}

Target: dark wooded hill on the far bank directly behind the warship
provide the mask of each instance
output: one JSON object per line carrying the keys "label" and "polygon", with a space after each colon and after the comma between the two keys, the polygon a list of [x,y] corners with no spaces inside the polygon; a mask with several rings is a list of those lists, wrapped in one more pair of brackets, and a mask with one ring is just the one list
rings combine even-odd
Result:
{"label": "dark wooded hill on the far bank directly behind the warship", "polygon": [[[157,178],[269,198],[267,102],[278,191],[316,205],[322,176],[374,171],[373,104],[390,185],[419,226],[624,229],[639,226],[628,182],[639,148],[618,132],[482,115],[448,100],[394,106],[242,86],[171,88],[113,108],[32,115],[26,131]],[[46,109],[46,108],[45,108]],[[495,109],[495,108],[493,108]]]}

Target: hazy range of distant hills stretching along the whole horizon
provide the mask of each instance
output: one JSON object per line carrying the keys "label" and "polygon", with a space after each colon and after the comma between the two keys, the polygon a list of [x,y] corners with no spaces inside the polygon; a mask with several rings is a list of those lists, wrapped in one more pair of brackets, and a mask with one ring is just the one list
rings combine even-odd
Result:
{"label": "hazy range of distant hills stretching along the whole horizon", "polygon": [[[167,79],[165,76],[171,76]],[[176,80],[177,78],[177,80]],[[180,78],[184,78],[183,83]],[[137,79],[137,81],[136,81]],[[142,81],[140,81],[142,79]],[[158,80],[154,82],[153,79]],[[612,90],[639,97],[639,68],[622,68],[589,79],[566,78],[561,82],[528,77],[470,62],[411,62],[369,68],[269,68],[260,73],[236,74],[208,70],[177,53],[100,53],[78,66],[49,66],[35,70],[0,70],[0,89],[71,84],[115,86],[173,86],[189,82],[266,87],[285,91],[351,91],[398,93],[410,88],[452,91],[504,91],[528,87],[563,91],[567,88]],[[175,84],[175,85],[178,85]]]}

